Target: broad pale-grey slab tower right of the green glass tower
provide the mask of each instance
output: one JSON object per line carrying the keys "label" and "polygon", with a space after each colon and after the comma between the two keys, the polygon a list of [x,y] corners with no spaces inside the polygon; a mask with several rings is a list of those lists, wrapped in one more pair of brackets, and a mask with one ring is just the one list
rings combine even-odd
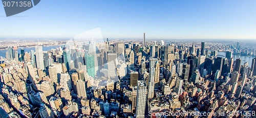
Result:
{"label": "broad pale-grey slab tower right of the green glass tower", "polygon": [[109,70],[108,73],[109,73],[109,76],[111,76],[111,77],[117,76],[116,66],[117,66],[117,53],[108,52],[108,70]]}

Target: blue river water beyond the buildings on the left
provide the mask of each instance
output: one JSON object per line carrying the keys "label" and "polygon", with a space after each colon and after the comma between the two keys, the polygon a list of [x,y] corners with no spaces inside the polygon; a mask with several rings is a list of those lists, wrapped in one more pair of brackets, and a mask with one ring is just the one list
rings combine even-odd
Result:
{"label": "blue river water beyond the buildings on the left", "polygon": [[[54,45],[54,46],[42,46],[42,51],[48,51],[51,49],[56,49],[57,47],[63,47],[63,45]],[[18,53],[20,54],[20,49],[18,48]],[[30,52],[31,50],[35,51],[35,47],[24,47],[23,48],[25,52]],[[0,56],[6,57],[7,50],[0,50]]]}

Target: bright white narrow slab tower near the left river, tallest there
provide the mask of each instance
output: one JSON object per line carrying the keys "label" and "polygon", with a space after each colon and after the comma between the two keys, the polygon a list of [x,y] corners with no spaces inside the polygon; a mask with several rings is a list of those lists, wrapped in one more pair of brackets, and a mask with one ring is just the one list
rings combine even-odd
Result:
{"label": "bright white narrow slab tower near the left river, tallest there", "polygon": [[45,70],[44,66],[44,54],[42,53],[42,46],[35,46],[35,57],[36,57],[36,67],[38,69]]}

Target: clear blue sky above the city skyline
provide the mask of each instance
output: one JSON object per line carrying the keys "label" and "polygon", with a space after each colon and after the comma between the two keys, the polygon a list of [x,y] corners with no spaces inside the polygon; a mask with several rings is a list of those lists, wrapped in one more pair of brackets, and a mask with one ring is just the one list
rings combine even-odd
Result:
{"label": "clear blue sky above the city skyline", "polygon": [[256,39],[256,1],[42,0],[6,17],[0,38],[70,39],[100,28],[103,38]]}

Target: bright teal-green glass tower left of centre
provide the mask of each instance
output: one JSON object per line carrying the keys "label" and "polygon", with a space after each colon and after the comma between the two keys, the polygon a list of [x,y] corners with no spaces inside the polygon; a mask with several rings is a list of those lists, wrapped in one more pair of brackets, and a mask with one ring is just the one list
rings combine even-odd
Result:
{"label": "bright teal-green glass tower left of centre", "polygon": [[91,77],[95,77],[95,61],[94,61],[94,55],[92,54],[86,54],[86,67],[88,75]]}

